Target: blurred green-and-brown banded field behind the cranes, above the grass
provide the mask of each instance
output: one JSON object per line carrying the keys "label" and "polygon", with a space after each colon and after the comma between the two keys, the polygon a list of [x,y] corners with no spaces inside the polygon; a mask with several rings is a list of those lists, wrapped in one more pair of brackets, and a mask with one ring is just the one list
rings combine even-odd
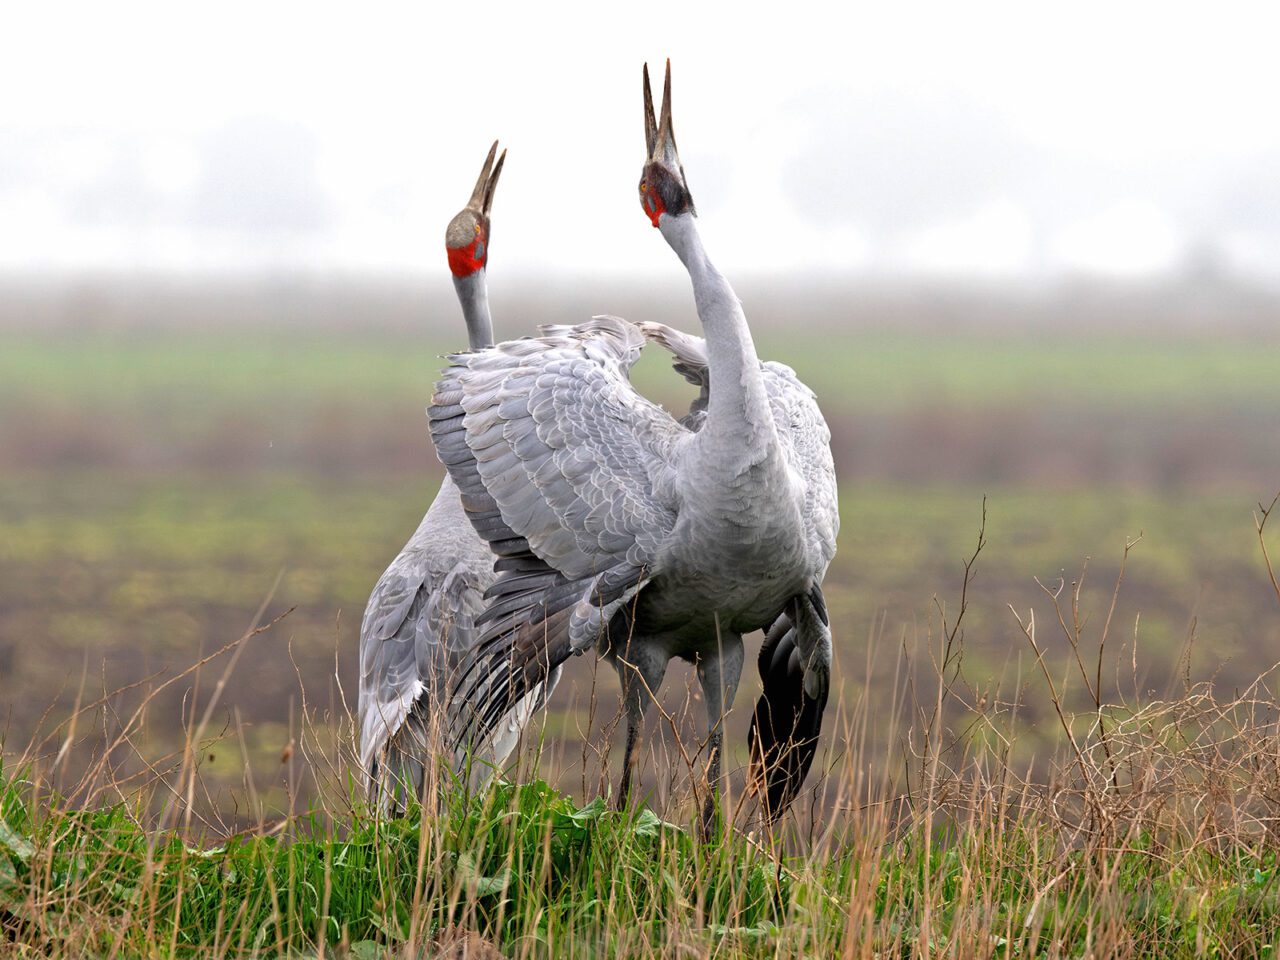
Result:
{"label": "blurred green-and-brown banded field behind the cranes, above the grass", "polygon": [[[1162,691],[1187,676],[1239,685],[1280,659],[1280,604],[1252,518],[1280,489],[1280,346],[870,333],[832,343],[777,330],[759,340],[818,390],[835,434],[844,529],[827,593],[847,704],[892,689],[902,649],[927,675],[936,599],[954,614],[983,495],[989,545],[963,680],[973,696],[998,689],[1001,708],[1018,703],[1046,739],[1053,721],[1042,698],[1021,696],[1032,662],[1009,605],[1036,608],[1064,671],[1069,650],[1036,579],[1069,584],[1091,558],[1096,636],[1139,532],[1108,691]],[[172,675],[233,640],[279,576],[266,617],[293,611],[252,641],[220,716],[264,788],[283,791],[301,690],[330,718],[344,716],[343,694],[353,708],[365,598],[435,494],[421,411],[440,349],[389,333],[4,333],[5,749],[65,716],[82,689]],[[636,380],[686,402],[660,356]],[[567,758],[614,710],[605,669],[588,716],[591,669],[575,664],[548,719]],[[668,680],[672,705],[685,703],[684,680]],[[756,690],[748,677],[731,721],[737,760]],[[186,698],[175,685],[152,705],[165,722],[151,735],[170,740],[154,749],[180,741]],[[218,753],[214,782],[241,782],[239,750]]]}

